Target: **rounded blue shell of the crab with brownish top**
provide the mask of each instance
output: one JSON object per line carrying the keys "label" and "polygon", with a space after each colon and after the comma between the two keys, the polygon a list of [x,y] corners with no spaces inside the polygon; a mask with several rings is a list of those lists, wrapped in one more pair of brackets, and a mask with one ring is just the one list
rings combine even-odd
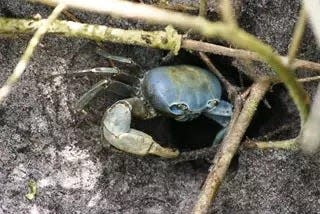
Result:
{"label": "rounded blue shell of the crab with brownish top", "polygon": [[142,89],[153,108],[180,121],[198,117],[221,99],[221,84],[217,77],[189,65],[149,70]]}

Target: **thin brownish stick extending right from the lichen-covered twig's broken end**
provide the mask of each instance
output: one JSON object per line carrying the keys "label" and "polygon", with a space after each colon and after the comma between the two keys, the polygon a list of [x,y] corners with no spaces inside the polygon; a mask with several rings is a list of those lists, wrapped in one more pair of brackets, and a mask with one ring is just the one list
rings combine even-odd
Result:
{"label": "thin brownish stick extending right from the lichen-covered twig's broken end", "polygon": [[[215,44],[200,42],[200,41],[191,40],[191,39],[182,40],[181,48],[194,50],[194,51],[208,52],[208,53],[213,53],[221,56],[229,56],[229,57],[234,57],[239,59],[247,59],[247,60],[263,62],[263,59],[259,57],[258,54],[251,51],[227,48],[221,45],[215,45]],[[288,58],[285,56],[281,56],[281,59],[284,62],[288,61]],[[295,59],[293,63],[293,67],[296,69],[299,68],[299,69],[306,69],[306,70],[317,71],[317,72],[320,71],[319,63],[311,62],[307,60],[301,60],[301,59]]]}

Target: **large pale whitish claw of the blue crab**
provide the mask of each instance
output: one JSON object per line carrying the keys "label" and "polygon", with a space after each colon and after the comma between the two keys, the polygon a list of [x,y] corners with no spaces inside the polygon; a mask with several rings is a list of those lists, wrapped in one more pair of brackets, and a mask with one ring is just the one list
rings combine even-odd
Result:
{"label": "large pale whitish claw of the blue crab", "polygon": [[141,131],[130,128],[132,105],[122,100],[107,109],[102,120],[104,141],[117,149],[136,155],[157,155],[174,158],[179,151],[160,146],[153,138]]}

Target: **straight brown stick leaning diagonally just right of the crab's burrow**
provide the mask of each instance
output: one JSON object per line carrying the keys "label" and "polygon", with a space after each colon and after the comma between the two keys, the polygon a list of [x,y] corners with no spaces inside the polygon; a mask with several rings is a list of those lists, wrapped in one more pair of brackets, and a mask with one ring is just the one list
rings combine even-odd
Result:
{"label": "straight brown stick leaning diagonally just right of the crab's burrow", "polygon": [[234,124],[229,128],[220,147],[220,151],[215,155],[213,169],[210,170],[202,187],[193,213],[207,213],[211,207],[212,199],[217,194],[218,188],[223,181],[230,162],[240,145],[241,139],[250,124],[260,100],[267,92],[269,85],[270,83],[268,81],[263,81],[254,83],[252,86],[250,95],[246,100],[243,109]]}

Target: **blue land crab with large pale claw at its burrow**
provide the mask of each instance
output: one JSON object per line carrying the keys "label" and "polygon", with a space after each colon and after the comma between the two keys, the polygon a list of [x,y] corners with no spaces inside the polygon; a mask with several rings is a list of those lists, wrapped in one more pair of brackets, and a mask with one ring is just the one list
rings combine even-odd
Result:
{"label": "blue land crab with large pale claw at its burrow", "polygon": [[214,142],[221,140],[232,115],[232,105],[221,100],[222,88],[217,77],[208,70],[190,66],[161,66],[142,75],[115,72],[113,78],[97,83],[80,98],[80,108],[103,89],[121,90],[130,98],[110,106],[102,119],[104,144],[136,155],[177,157],[178,150],[162,147],[153,138],[130,127],[131,117],[143,120],[167,116],[187,121],[203,114],[223,129]]}

